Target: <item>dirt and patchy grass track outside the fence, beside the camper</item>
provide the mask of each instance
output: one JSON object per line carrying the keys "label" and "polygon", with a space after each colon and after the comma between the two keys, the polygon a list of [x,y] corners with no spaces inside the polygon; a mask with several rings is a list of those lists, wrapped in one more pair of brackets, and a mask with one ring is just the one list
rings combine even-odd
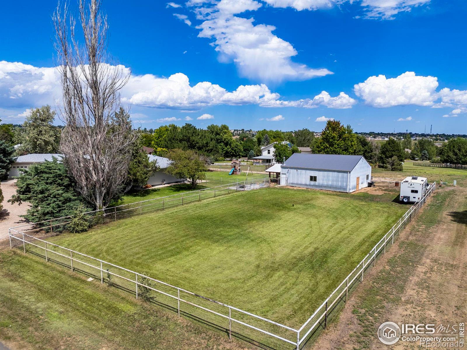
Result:
{"label": "dirt and patchy grass track outside the fence, beside the camper", "polygon": [[467,322],[467,189],[440,189],[430,202],[314,349],[415,349],[415,342],[382,344],[378,327]]}

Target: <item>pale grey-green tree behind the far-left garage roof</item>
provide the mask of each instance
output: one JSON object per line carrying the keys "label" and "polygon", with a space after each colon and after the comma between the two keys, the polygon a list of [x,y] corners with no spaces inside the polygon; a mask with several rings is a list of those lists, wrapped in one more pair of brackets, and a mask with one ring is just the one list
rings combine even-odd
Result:
{"label": "pale grey-green tree behind the far-left garage roof", "polygon": [[18,153],[56,153],[60,130],[53,126],[55,112],[50,105],[34,108],[23,123],[19,134]]}

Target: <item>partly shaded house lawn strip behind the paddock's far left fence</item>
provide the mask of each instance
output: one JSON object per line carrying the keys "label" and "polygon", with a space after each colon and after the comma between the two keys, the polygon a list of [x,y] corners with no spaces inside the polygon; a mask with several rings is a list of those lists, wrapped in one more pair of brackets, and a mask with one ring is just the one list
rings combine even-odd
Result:
{"label": "partly shaded house lawn strip behind the paddock's far left fence", "polygon": [[[264,178],[267,176],[268,175],[262,174],[249,174],[248,179]],[[111,203],[111,206],[140,202],[148,199],[177,195],[197,189],[205,189],[223,184],[245,181],[246,177],[246,174],[229,175],[228,172],[225,171],[210,171],[206,173],[206,182],[199,183],[195,189],[193,189],[189,183],[178,183],[165,187],[157,187],[155,189],[132,189],[122,196],[119,201]]]}

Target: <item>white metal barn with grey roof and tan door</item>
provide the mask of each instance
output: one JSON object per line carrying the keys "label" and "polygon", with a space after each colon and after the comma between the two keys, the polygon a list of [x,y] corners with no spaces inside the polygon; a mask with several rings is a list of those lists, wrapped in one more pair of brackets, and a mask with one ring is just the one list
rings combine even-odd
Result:
{"label": "white metal barn with grey roof and tan door", "polygon": [[361,155],[294,153],[281,166],[281,185],[354,192],[368,187],[371,166]]}

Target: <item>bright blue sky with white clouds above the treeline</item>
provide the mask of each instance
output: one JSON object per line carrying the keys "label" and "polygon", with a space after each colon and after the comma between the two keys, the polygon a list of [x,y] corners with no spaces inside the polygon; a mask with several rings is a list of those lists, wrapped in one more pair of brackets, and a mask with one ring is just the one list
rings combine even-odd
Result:
{"label": "bright blue sky with white clouds above the treeline", "polygon": [[[60,98],[55,6],[2,3],[3,122]],[[131,68],[122,97],[137,126],[316,131],[333,118],[362,132],[467,133],[466,1],[103,0],[103,8],[110,51]]]}

